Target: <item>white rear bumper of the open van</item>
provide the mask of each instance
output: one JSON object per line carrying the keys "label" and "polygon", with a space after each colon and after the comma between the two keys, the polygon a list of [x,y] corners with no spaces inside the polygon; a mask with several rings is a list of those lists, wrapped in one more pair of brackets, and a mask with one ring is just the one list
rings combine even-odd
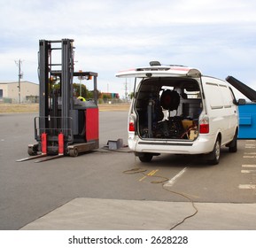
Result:
{"label": "white rear bumper of the open van", "polygon": [[169,154],[202,154],[213,151],[214,137],[198,137],[195,141],[142,140],[137,136],[128,138],[128,147],[132,151],[169,153]]}

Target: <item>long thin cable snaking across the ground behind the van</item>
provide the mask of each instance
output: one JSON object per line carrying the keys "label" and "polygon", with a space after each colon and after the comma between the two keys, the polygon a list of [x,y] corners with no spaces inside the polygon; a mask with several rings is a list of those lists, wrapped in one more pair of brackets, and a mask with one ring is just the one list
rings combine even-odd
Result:
{"label": "long thin cable snaking across the ground behind the van", "polygon": [[186,216],[182,221],[178,222],[177,224],[175,224],[175,226],[171,227],[170,230],[173,230],[175,229],[176,227],[180,226],[184,221],[186,221],[187,219],[190,219],[191,217],[195,216],[197,213],[198,213],[198,208],[196,207],[194,201],[189,198],[188,196],[186,196],[185,194],[182,194],[180,192],[177,192],[175,190],[169,190],[165,187],[165,182],[169,181],[169,178],[165,177],[165,176],[161,176],[161,175],[155,175],[155,174],[146,174],[145,172],[147,171],[147,169],[143,169],[143,168],[140,168],[140,167],[137,167],[137,168],[133,168],[133,169],[130,169],[130,170],[126,170],[126,171],[123,171],[124,174],[144,174],[146,176],[153,176],[153,177],[157,177],[157,178],[161,178],[161,180],[159,181],[152,181],[151,183],[155,183],[155,184],[161,184],[162,186],[162,189],[163,190],[167,190],[168,192],[170,193],[173,193],[175,195],[178,195],[178,196],[181,196],[182,198],[186,198],[190,201],[192,207],[194,208],[195,212]]}

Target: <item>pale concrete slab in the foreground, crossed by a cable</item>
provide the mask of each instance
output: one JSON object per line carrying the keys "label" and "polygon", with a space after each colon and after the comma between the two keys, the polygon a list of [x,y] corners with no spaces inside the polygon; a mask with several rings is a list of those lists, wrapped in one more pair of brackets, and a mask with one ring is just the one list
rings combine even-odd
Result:
{"label": "pale concrete slab in the foreground, crossed by a cable", "polygon": [[[175,229],[256,229],[256,204],[197,203]],[[75,198],[27,224],[26,230],[170,229],[195,212],[190,203]]]}

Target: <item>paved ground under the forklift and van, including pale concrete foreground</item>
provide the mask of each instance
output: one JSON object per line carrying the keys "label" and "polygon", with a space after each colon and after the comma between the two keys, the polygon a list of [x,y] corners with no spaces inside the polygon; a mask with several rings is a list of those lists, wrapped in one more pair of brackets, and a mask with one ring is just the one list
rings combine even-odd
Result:
{"label": "paved ground under the forklift and van, including pale concrete foreground", "polygon": [[0,229],[172,229],[196,209],[175,229],[256,229],[255,140],[221,149],[218,166],[176,155],[143,164],[128,148],[105,150],[126,143],[128,112],[100,112],[99,150],[17,163],[35,143],[35,115],[0,114]]}

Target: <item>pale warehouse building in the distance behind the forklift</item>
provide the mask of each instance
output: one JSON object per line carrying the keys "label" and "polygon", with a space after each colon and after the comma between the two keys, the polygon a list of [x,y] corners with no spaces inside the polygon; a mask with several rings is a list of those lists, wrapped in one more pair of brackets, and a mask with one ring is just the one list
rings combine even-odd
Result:
{"label": "pale warehouse building in the distance behind the forklift", "polygon": [[31,81],[0,81],[0,101],[4,103],[37,103],[39,84]]}

